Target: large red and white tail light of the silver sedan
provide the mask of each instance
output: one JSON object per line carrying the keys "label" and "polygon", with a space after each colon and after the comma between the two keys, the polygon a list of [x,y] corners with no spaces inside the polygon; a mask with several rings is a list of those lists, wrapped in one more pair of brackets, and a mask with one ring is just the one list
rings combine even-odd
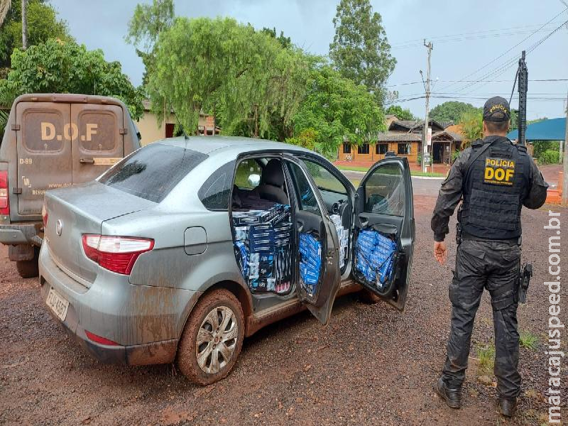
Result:
{"label": "large red and white tail light of the silver sedan", "polygon": [[154,248],[154,240],[132,236],[83,234],[85,255],[105,269],[129,275],[138,256]]}

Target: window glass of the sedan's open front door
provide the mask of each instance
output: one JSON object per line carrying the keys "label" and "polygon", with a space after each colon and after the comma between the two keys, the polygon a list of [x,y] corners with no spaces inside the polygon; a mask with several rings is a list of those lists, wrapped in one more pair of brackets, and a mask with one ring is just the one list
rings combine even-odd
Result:
{"label": "window glass of the sedan's open front door", "polygon": [[365,212],[404,216],[405,186],[398,164],[381,165],[365,182]]}

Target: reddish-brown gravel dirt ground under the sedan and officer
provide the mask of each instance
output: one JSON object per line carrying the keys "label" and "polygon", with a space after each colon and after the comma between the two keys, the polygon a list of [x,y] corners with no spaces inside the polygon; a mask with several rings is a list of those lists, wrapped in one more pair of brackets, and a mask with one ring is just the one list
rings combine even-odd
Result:
{"label": "reddish-brown gravel dirt ground under the sedan and officer", "polygon": [[[547,209],[523,214],[523,258],[535,266],[535,276],[519,324],[538,337],[539,346],[521,349],[525,395],[518,416],[506,421],[496,414],[492,375],[482,384],[474,359],[475,349],[493,336],[486,296],[476,319],[464,407],[450,410],[432,392],[444,361],[455,245],[450,235],[446,266],[432,261],[432,187],[415,195],[417,242],[403,314],[383,303],[366,305],[356,295],[342,297],[328,327],[303,313],[246,339],[234,372],[206,388],[187,383],[171,365],[105,366],[91,359],[47,314],[38,280],[18,278],[1,246],[0,424],[540,425],[548,388],[542,285]],[[568,217],[568,209],[555,210]],[[568,271],[565,257],[562,271]],[[564,351],[566,342],[564,337]],[[566,383],[564,374],[564,403]]]}

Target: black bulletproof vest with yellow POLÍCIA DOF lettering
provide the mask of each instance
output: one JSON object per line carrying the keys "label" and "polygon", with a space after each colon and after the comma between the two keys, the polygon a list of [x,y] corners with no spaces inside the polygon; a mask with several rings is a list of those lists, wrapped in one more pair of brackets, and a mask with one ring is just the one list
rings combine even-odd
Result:
{"label": "black bulletproof vest with yellow POL\u00cdCIA DOF lettering", "polygon": [[515,239],[521,234],[520,209],[530,187],[530,158],[524,146],[502,136],[472,143],[471,155],[491,143],[469,165],[464,180],[461,225],[483,239]]}

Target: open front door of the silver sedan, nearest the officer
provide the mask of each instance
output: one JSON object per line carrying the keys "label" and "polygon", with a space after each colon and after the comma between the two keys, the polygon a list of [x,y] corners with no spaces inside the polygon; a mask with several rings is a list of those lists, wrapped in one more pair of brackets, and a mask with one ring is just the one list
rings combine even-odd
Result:
{"label": "open front door of the silver sedan, nearest the officer", "polygon": [[361,180],[353,241],[355,280],[403,310],[415,241],[413,187],[406,158],[378,161]]}

